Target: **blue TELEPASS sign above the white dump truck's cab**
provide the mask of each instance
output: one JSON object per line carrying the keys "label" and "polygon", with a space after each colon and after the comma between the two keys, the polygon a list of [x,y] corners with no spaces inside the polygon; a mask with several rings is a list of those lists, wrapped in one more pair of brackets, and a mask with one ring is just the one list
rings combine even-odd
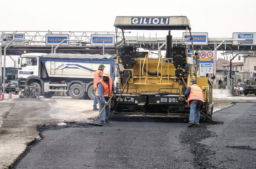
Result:
{"label": "blue TELEPASS sign above the white dump truck's cab", "polygon": [[[60,44],[60,42],[64,39],[69,39],[68,34],[46,34],[46,45],[49,46],[57,46]],[[68,46],[68,41],[64,41],[61,46]]]}

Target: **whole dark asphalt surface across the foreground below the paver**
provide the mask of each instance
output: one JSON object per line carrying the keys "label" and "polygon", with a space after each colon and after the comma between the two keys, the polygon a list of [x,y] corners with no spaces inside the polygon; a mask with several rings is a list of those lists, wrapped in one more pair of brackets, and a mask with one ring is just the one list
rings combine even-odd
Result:
{"label": "whole dark asphalt surface across the foreground below the paver", "polygon": [[111,121],[38,128],[13,168],[256,168],[256,103],[213,114],[224,124]]}

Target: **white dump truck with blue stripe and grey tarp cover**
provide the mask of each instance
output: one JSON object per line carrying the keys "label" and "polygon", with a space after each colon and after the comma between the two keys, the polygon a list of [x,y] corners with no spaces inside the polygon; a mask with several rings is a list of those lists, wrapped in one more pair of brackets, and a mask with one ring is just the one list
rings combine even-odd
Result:
{"label": "white dump truck with blue stripe and grey tarp cover", "polygon": [[18,59],[19,80],[16,91],[24,91],[26,86],[34,85],[37,95],[45,98],[51,98],[54,92],[66,92],[73,99],[86,96],[93,99],[94,72],[100,64],[104,64],[104,71],[114,78],[114,57],[108,54],[22,54]]}

